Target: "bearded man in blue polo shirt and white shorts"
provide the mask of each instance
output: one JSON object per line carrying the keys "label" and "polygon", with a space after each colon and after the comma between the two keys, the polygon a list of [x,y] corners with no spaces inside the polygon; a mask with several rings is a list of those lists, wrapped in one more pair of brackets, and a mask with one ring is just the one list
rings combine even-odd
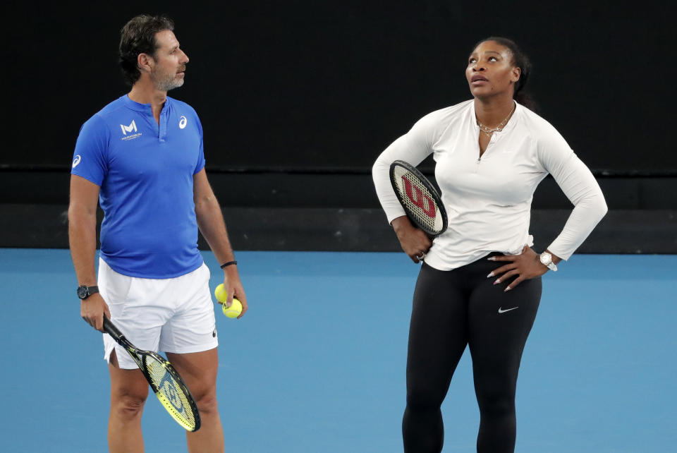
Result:
{"label": "bearded man in blue polo shirt and white shorts", "polygon": [[[198,227],[224,263],[226,305],[237,296],[241,317],[247,300],[205,174],[200,120],[188,104],[167,96],[183,85],[188,56],[165,17],[130,20],[119,50],[131,90],[85,122],[71,171],[69,238],[80,315],[101,331],[105,315],[140,349],[164,351],[200,409],[202,427],[187,433],[188,450],[223,452],[218,341],[209,269],[197,250]],[[97,201],[105,214],[98,281]],[[108,334],[104,351],[111,376],[109,449],[141,452],[147,382]]]}

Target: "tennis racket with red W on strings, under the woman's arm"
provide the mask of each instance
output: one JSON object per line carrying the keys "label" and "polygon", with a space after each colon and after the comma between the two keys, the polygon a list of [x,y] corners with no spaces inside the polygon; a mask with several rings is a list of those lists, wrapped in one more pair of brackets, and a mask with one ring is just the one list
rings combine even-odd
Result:
{"label": "tennis racket with red W on strings, under the woman's arm", "polygon": [[390,164],[390,183],[407,217],[430,236],[446,230],[446,210],[432,183],[413,165],[396,160]]}

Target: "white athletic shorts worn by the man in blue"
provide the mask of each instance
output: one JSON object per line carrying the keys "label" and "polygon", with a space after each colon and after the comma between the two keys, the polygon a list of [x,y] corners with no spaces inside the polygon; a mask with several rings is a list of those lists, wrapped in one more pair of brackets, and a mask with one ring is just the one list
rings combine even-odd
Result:
{"label": "white athletic shorts worn by the man in blue", "polygon": [[[99,291],[111,310],[111,321],[138,349],[176,354],[208,351],[219,345],[209,267],[170,279],[143,279],[119,274],[99,258]],[[104,360],[115,348],[118,366],[138,368],[109,334],[104,334]]]}

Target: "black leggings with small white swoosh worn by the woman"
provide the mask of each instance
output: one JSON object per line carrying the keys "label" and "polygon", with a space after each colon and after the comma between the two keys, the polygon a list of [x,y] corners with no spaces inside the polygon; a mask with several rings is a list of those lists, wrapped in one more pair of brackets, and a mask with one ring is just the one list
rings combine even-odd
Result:
{"label": "black leggings with small white swoosh worn by the woman", "polygon": [[465,345],[480,405],[477,452],[515,449],[517,373],[536,318],[541,279],[504,292],[506,282],[494,285],[497,277],[487,274],[505,263],[488,256],[451,271],[422,265],[409,328],[405,452],[441,452],[440,406]]}

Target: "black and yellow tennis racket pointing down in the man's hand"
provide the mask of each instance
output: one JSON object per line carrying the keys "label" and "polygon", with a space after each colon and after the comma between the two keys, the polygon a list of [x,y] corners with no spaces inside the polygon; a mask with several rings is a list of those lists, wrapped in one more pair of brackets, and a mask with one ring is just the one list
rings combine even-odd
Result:
{"label": "black and yellow tennis racket pointing down in the man's hand", "polygon": [[199,430],[200,412],[195,399],[171,363],[153,351],[141,351],[131,344],[106,316],[104,330],[132,356],[169,415],[186,430]]}

